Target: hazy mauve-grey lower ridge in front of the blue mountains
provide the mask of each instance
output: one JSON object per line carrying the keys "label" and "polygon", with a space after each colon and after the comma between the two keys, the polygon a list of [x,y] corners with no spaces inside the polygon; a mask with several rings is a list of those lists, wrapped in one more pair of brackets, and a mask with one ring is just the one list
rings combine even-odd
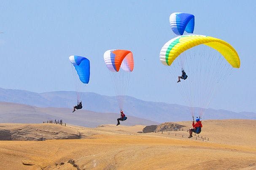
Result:
{"label": "hazy mauve-grey lower ridge in front of the blue mountains", "polygon": [[[77,110],[72,113],[68,108],[54,107],[35,107],[10,102],[0,102],[0,123],[43,123],[47,120],[63,120],[64,123],[97,127],[102,124],[116,124],[117,113],[99,113],[88,110]],[[134,116],[127,116],[127,121],[121,122],[121,125],[152,125],[157,122]],[[129,120],[129,121],[128,121]]]}

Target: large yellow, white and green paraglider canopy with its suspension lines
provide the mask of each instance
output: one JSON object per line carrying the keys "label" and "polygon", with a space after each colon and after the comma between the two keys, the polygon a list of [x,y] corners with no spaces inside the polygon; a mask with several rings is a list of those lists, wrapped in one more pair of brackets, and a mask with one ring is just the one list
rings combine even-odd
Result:
{"label": "large yellow, white and green paraglider canopy with its suspension lines", "polygon": [[192,117],[197,114],[199,119],[220,82],[231,75],[233,68],[240,68],[240,58],[234,47],[224,40],[204,35],[182,35],[171,39],[162,47],[159,58],[168,66],[166,69],[172,79],[180,75],[181,69],[189,74],[186,81],[173,88],[178,88]]}

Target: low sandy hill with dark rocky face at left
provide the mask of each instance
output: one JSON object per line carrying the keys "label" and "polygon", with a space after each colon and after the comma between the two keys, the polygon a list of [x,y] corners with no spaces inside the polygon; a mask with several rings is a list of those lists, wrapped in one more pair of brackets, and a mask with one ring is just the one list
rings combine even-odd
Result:
{"label": "low sandy hill with dark rocky face at left", "polygon": [[[119,126],[101,125],[86,128],[54,123],[22,124],[0,123],[0,141],[45,141],[50,139],[88,139],[96,134],[135,134],[145,125]],[[128,128],[128,131],[127,131]]]}

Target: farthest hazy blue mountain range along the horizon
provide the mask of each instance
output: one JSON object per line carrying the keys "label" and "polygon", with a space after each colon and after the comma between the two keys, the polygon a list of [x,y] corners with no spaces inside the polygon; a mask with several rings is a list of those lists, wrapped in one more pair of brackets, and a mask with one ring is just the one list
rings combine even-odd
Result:
{"label": "farthest hazy blue mountain range along the horizon", "polygon": [[[84,92],[81,95],[84,104],[83,109],[85,110],[101,113],[119,113],[115,96],[104,96],[92,92]],[[76,93],[66,91],[35,93],[0,88],[0,101],[36,107],[62,107],[69,108],[71,111],[73,105],[76,104]],[[164,102],[148,102],[129,96],[125,96],[124,112],[127,116],[155,122],[191,120],[191,115],[186,106]],[[256,113],[207,109],[203,119],[256,119]]]}

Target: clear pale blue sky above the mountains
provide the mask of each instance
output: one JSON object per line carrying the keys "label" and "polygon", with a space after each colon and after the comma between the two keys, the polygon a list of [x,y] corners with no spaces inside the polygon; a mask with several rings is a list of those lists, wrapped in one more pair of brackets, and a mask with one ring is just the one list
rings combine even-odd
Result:
{"label": "clear pale blue sky above the mountains", "polygon": [[0,87],[73,91],[68,57],[81,55],[91,61],[84,91],[115,95],[103,53],[127,49],[135,60],[127,95],[183,104],[166,81],[159,51],[174,37],[170,14],[185,12],[195,16],[195,34],[223,39],[240,55],[240,69],[223,82],[209,107],[256,112],[255,9],[255,0],[2,0]]}

